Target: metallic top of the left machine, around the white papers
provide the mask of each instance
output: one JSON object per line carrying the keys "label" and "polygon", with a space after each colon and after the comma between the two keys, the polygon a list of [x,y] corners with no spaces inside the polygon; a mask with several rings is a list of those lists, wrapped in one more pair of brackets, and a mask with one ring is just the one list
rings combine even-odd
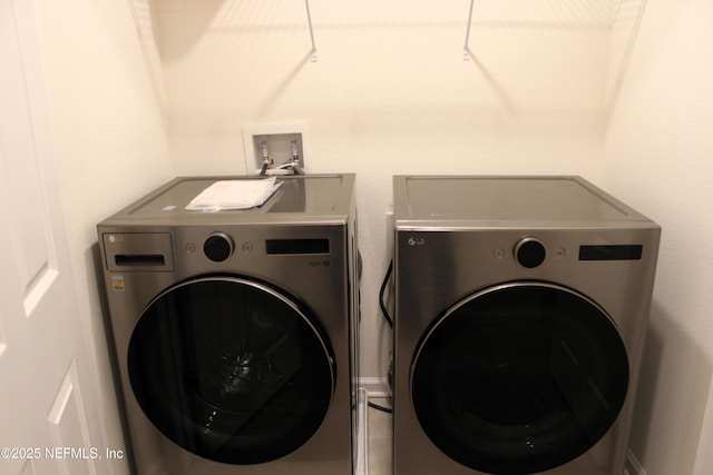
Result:
{"label": "metallic top of the left machine, around the white papers", "polygon": [[277,178],[282,182],[264,205],[242,210],[191,211],[186,206],[219,180],[256,177],[180,177],[106,219],[105,226],[341,222],[349,215],[354,175],[305,175]]}

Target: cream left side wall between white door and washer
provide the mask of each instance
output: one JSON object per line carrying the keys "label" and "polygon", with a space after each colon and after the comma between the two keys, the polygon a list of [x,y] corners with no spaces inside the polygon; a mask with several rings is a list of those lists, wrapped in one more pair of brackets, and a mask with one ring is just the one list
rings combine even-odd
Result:
{"label": "cream left side wall between white door and washer", "polygon": [[[87,418],[123,449],[95,275],[96,225],[173,176],[163,116],[127,1],[40,0],[40,30],[81,319],[99,407]],[[51,355],[48,355],[51,357]],[[108,462],[107,462],[108,464]],[[127,471],[126,459],[114,466]]]}

